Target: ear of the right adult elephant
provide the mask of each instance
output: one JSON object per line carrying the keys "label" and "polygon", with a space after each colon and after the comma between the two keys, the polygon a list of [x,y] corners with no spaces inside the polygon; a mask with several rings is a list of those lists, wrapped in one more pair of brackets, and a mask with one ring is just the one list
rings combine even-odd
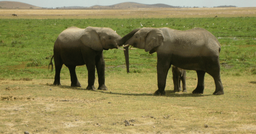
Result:
{"label": "ear of the right adult elephant", "polygon": [[145,51],[150,51],[150,53],[154,53],[155,51],[152,49],[161,45],[163,42],[163,32],[160,29],[154,28],[146,34]]}

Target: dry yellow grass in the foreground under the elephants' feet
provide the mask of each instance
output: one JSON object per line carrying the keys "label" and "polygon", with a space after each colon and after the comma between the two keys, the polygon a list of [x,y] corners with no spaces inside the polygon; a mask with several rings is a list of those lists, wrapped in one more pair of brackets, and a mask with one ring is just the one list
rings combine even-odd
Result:
{"label": "dry yellow grass in the foreground under the elephants' feet", "polygon": [[187,75],[188,92],[171,93],[170,74],[166,96],[152,96],[156,73],[109,74],[108,91],[84,90],[87,79],[82,77],[83,88],[69,87],[69,79],[62,79],[62,86],[52,86],[50,79],[0,80],[0,133],[256,132],[254,76],[224,75],[225,94],[214,96],[210,75],[205,77],[203,95],[191,94],[196,73]]}

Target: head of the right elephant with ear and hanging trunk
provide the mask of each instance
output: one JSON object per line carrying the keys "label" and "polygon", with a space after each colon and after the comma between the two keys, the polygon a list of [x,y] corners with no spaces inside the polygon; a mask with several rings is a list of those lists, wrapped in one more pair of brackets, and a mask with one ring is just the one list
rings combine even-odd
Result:
{"label": "head of the right elephant with ear and hanging trunk", "polygon": [[[134,29],[132,32],[135,32],[135,34],[128,39],[125,42],[125,63],[126,63],[126,69],[127,73],[129,73],[129,46],[136,47],[139,49],[144,49],[146,52],[149,51],[149,53],[154,53],[157,46],[163,44],[164,42],[164,35],[161,30],[158,28],[139,28]],[[131,33],[132,33],[131,32]],[[128,34],[127,34],[128,35]],[[126,35],[125,35],[126,36]]]}

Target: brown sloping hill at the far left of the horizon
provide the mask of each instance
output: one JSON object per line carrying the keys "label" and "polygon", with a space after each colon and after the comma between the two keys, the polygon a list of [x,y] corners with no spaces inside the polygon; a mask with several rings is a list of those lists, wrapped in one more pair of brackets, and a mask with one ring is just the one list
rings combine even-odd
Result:
{"label": "brown sloping hill at the far left of the horizon", "polygon": [[42,7],[15,1],[0,1],[0,8],[14,9],[41,9]]}

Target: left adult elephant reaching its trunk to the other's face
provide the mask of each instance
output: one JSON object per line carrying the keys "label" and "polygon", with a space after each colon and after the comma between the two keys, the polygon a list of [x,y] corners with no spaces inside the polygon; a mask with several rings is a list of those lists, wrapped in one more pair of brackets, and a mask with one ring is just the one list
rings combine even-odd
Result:
{"label": "left adult elephant reaching its trunk to the other's face", "polygon": [[[76,76],[76,66],[86,65],[88,70],[88,86],[94,90],[95,66],[98,73],[98,90],[108,90],[105,85],[105,61],[103,50],[120,48],[134,33],[123,38],[111,28],[87,27],[85,29],[70,27],[62,31],[53,47],[55,77],[53,85],[60,85],[62,65],[68,67],[71,87],[82,87]],[[121,49],[121,48],[120,48]],[[124,50],[124,49],[122,49]],[[52,59],[49,66],[52,65]]]}

